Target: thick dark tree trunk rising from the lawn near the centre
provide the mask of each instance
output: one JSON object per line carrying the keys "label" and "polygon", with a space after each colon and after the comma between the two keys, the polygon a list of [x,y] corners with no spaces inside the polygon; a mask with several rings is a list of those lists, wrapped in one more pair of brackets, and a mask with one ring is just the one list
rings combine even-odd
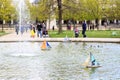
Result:
{"label": "thick dark tree trunk rising from the lawn near the centre", "polygon": [[59,16],[59,20],[58,20],[59,31],[58,31],[58,33],[60,34],[62,32],[62,4],[61,4],[61,0],[57,0],[57,1],[58,1],[58,16]]}

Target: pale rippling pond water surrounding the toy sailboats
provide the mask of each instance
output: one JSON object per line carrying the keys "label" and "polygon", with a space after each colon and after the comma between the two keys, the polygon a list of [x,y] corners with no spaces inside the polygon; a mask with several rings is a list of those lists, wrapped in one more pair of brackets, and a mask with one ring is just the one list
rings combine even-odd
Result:
{"label": "pale rippling pond water surrounding the toy sailboats", "polygon": [[[120,44],[50,42],[0,43],[0,80],[120,80]],[[102,65],[82,66],[92,52]]]}

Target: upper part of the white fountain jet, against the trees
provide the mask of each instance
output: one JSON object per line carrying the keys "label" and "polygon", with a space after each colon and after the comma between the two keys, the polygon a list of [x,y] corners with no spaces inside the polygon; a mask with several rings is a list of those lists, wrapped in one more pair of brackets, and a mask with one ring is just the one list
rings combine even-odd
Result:
{"label": "upper part of the white fountain jet, against the trees", "polygon": [[13,5],[16,7],[18,13],[19,29],[22,30],[23,25],[30,21],[30,12],[26,5],[26,0],[13,0]]}

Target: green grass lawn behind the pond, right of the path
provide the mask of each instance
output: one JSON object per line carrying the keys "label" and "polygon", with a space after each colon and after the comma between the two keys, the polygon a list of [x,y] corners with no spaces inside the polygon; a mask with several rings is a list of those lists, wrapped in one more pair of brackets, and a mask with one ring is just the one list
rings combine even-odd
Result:
{"label": "green grass lawn behind the pond, right of the path", "polygon": [[[74,32],[63,31],[61,34],[58,34],[58,31],[49,31],[49,36],[51,38],[63,38],[66,35],[70,38],[73,38]],[[86,35],[88,38],[120,38],[120,30],[87,30]],[[79,37],[82,37],[82,31],[80,31]]]}

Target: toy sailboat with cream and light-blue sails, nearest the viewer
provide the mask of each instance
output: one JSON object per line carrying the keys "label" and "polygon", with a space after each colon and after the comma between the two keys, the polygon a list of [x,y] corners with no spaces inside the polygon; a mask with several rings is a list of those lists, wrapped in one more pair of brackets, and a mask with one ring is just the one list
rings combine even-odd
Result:
{"label": "toy sailboat with cream and light-blue sails, nearest the viewer", "polygon": [[83,65],[86,66],[86,68],[98,68],[98,67],[101,67],[100,64],[94,58],[92,53],[90,53],[90,55],[88,56],[88,58],[86,59],[86,61],[85,61],[85,63]]}

